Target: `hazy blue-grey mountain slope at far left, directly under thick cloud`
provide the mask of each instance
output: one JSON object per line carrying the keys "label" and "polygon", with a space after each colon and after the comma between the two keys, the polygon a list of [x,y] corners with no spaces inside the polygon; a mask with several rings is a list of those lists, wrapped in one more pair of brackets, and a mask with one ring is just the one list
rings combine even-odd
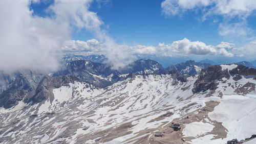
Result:
{"label": "hazy blue-grey mountain slope at far left, directly under thick cloud", "polygon": [[10,108],[36,88],[46,73],[36,70],[0,71],[0,107]]}

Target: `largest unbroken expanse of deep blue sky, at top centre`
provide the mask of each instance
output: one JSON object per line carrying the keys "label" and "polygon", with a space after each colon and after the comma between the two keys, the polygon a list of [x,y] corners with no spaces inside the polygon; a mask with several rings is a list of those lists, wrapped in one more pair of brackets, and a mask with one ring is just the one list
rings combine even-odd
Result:
{"label": "largest unbroken expanse of deep blue sky, at top centre", "polygon": [[210,20],[197,20],[200,17],[193,13],[166,18],[161,12],[161,1],[112,1],[100,9],[94,5],[92,11],[97,11],[105,25],[110,25],[109,33],[118,43],[157,45],[184,37],[208,44],[221,41],[218,27]]}

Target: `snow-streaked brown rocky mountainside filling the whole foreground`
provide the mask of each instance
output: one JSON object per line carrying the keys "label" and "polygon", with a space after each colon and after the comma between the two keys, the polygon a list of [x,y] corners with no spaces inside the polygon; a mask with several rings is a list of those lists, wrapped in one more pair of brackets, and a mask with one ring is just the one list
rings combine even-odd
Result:
{"label": "snow-streaked brown rocky mountainside filling the whole foreground", "polygon": [[[226,64],[194,76],[138,72],[101,88],[78,73],[90,63],[77,62],[67,65],[67,76],[44,77],[18,105],[0,109],[0,142],[226,143],[255,134],[256,69]],[[93,68],[96,75],[106,67]]]}

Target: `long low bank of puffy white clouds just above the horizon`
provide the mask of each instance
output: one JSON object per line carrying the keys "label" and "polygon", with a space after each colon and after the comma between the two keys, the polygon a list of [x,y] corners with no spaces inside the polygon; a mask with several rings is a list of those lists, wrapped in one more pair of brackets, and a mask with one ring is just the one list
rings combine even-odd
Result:
{"label": "long low bank of puffy white clouds just above the horizon", "polygon": [[[94,44],[90,44],[92,42]],[[71,43],[71,44],[70,44]],[[91,45],[91,46],[90,46]],[[135,59],[136,54],[158,54],[161,56],[187,56],[187,55],[215,55],[222,57],[233,57],[234,55],[230,52],[234,48],[233,43],[221,42],[219,45],[206,45],[200,41],[190,41],[187,38],[182,40],[174,41],[172,44],[159,43],[157,46],[153,45],[116,45],[120,47],[119,55],[121,57],[129,56]],[[108,52],[104,51],[105,43],[92,39],[88,41],[74,41],[69,40],[66,45],[62,46],[63,51],[69,52],[87,52],[87,54],[104,54],[108,55]],[[113,51],[115,51],[113,49]]]}

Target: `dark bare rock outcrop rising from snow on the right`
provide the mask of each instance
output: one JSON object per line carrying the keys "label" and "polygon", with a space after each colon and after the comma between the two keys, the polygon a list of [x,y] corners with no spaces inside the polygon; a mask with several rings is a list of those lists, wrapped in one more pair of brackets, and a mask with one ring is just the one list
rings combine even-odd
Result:
{"label": "dark bare rock outcrop rising from snow on the right", "polygon": [[224,77],[227,79],[230,78],[227,69],[222,70],[220,65],[211,65],[206,69],[202,69],[192,91],[193,93],[197,93],[208,89],[215,90],[218,85],[216,81]]}

